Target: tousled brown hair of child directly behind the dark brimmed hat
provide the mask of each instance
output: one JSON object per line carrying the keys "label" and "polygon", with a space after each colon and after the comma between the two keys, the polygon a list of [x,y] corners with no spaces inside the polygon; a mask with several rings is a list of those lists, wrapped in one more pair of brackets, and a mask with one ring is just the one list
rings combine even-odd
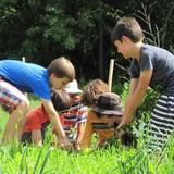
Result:
{"label": "tousled brown hair of child directly behind the dark brimmed hat", "polygon": [[96,105],[99,96],[103,92],[109,92],[109,86],[101,79],[91,80],[83,92],[83,103]]}

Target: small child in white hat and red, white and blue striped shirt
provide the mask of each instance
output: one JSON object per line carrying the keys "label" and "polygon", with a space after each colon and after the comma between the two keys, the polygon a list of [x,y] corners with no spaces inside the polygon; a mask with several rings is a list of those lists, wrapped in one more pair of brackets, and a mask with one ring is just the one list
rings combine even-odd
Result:
{"label": "small child in white hat and red, white and blue striped shirt", "polygon": [[[72,107],[70,108],[69,113],[65,113],[64,115],[63,128],[66,136],[72,140],[72,142],[74,142],[75,148],[78,148],[78,144],[84,135],[85,123],[87,120],[87,107],[82,103],[80,95],[83,91],[78,89],[76,79],[69,83],[64,89],[72,99]],[[71,134],[73,128],[75,128],[75,137]]]}

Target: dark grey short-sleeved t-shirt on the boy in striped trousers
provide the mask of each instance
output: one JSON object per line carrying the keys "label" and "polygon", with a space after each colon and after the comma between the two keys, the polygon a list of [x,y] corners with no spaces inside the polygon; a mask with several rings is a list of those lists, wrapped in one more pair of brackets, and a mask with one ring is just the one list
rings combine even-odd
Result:
{"label": "dark grey short-sleeved t-shirt on the boy in striped trousers", "polygon": [[174,55],[162,48],[142,45],[139,62],[133,59],[130,77],[139,78],[140,72],[152,70],[149,86],[162,94],[174,95]]}

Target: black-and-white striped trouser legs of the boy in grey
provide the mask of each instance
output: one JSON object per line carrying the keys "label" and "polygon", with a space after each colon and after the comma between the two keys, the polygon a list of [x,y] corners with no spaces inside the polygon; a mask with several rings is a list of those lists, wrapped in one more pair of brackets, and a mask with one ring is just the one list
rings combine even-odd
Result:
{"label": "black-and-white striped trouser legs of the boy in grey", "polygon": [[174,97],[162,95],[152,111],[150,119],[149,149],[158,150],[164,147],[169,135],[174,130]]}

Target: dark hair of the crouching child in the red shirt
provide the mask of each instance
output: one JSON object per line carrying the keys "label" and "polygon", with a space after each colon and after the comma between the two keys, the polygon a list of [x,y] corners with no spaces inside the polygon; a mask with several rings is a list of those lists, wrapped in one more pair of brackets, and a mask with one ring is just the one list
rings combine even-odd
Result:
{"label": "dark hair of the crouching child in the red shirt", "polygon": [[63,89],[62,90],[52,89],[51,101],[53,103],[55,111],[67,110],[72,104],[72,100],[69,94]]}

